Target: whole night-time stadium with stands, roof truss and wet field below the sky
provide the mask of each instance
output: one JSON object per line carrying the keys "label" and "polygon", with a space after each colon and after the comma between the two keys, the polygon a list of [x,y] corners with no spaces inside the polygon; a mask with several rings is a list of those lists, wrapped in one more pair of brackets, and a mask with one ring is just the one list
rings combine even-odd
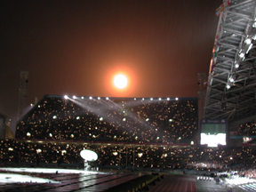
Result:
{"label": "whole night-time stadium with stands, roof truss and wet field below the sky", "polygon": [[[44,95],[15,137],[1,114],[0,190],[255,191],[255,7],[220,5],[196,98]],[[97,157],[86,161],[83,150]]]}

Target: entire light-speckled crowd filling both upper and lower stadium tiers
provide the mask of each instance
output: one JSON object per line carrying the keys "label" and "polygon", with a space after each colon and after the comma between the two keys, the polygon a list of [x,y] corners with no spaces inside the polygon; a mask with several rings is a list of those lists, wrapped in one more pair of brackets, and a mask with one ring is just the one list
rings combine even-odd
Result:
{"label": "entire light-speckled crowd filling both upper and lower stadium tiers", "polygon": [[[1,140],[0,163],[12,166],[75,164],[81,168],[84,159],[80,151],[86,148],[98,154],[99,158],[93,164],[101,168],[132,166],[164,170],[223,169],[228,166],[253,170],[256,152],[250,147],[188,145],[172,148],[173,143],[196,139],[197,121],[195,98],[45,96],[17,124],[17,140]],[[237,132],[244,134],[244,130],[246,128],[241,126]],[[252,124],[249,130],[248,134],[253,135]],[[133,145],[129,145],[131,143]],[[157,146],[160,143],[166,146]]]}

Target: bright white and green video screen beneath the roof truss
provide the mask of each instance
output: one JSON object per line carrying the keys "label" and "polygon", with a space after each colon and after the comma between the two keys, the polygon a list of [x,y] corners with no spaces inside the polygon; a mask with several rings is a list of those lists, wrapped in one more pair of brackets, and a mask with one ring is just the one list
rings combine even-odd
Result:
{"label": "bright white and green video screen beneath the roof truss", "polygon": [[201,123],[200,144],[208,147],[227,145],[228,125],[225,120],[203,120]]}

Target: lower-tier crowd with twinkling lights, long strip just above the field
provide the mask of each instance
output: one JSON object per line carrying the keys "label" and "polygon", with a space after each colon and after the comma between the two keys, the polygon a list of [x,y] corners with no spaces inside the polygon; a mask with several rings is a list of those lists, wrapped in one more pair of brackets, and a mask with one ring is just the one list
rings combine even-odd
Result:
{"label": "lower-tier crowd with twinkling lights, long strip just above the field", "polygon": [[[254,168],[256,156],[256,151],[248,147],[132,147],[128,144],[109,146],[108,144],[97,145],[77,142],[1,140],[0,163],[17,166],[22,164],[33,164],[33,166],[76,164],[83,167],[84,159],[80,156],[80,151],[84,148],[91,149],[98,154],[98,160],[93,163],[94,166],[102,168],[121,166],[122,169],[125,169],[126,165],[133,166],[134,162],[134,166],[140,169],[189,167],[221,169],[226,166],[234,168],[242,166],[248,170]],[[204,165],[199,165],[200,163],[204,163]]]}

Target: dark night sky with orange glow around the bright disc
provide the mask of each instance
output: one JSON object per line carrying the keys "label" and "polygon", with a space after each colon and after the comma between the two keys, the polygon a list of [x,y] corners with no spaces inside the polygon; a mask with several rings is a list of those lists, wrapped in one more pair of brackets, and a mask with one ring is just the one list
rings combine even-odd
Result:
{"label": "dark night sky with orange glow around the bright disc", "polygon": [[[20,71],[29,72],[26,107],[45,94],[196,97],[221,3],[1,1],[0,111],[15,124]],[[119,71],[129,77],[122,92],[112,85]]]}

